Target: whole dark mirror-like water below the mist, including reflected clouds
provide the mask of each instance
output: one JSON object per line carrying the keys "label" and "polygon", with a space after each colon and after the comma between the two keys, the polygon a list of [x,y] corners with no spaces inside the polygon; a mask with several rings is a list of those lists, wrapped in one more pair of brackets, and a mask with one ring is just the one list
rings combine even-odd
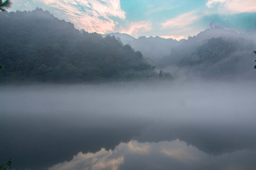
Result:
{"label": "whole dark mirror-like water below the mist, including reflected clouds", "polygon": [[[5,140],[0,141],[0,160],[14,158],[15,169],[252,170],[256,167],[255,125],[120,117],[101,117],[110,123],[107,125],[96,121],[96,117],[3,118],[0,135]],[[78,119],[84,124],[68,123]]]}

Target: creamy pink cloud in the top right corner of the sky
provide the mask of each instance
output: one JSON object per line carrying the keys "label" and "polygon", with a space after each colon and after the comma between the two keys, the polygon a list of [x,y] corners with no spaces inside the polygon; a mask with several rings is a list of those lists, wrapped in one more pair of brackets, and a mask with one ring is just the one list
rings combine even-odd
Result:
{"label": "creamy pink cloud in the top right corner of the sky", "polygon": [[256,0],[208,0],[206,6],[209,8],[217,6],[221,13],[256,12]]}

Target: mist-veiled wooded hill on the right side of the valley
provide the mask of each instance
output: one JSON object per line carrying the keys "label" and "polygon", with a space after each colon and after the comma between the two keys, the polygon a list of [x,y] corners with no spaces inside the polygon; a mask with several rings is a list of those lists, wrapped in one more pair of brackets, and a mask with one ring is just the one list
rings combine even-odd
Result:
{"label": "mist-veiled wooded hill on the right side of the valley", "polygon": [[256,34],[238,34],[215,27],[182,40],[160,64],[175,74],[189,76],[249,77],[253,76]]}

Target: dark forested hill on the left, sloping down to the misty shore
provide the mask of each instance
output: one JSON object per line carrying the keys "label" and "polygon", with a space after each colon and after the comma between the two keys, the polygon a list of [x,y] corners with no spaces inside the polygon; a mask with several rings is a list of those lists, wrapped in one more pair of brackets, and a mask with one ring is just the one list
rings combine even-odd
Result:
{"label": "dark forested hill on the left, sloping down to the misty shore", "polygon": [[0,81],[82,82],[146,77],[153,67],[115,37],[82,33],[36,9],[0,13]]}

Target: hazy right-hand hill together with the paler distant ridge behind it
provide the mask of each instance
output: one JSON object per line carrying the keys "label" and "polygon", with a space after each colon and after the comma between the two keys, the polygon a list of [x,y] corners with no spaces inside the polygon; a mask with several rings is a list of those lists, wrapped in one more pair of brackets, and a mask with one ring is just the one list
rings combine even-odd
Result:
{"label": "hazy right-hand hill together with the paler distant ridge behind it", "polygon": [[[141,51],[156,71],[175,78],[251,79],[254,75],[253,51],[256,32],[238,32],[225,26],[209,26],[197,35],[180,41],[158,36],[129,39],[113,33],[123,43]],[[130,35],[129,35],[130,36]]]}

